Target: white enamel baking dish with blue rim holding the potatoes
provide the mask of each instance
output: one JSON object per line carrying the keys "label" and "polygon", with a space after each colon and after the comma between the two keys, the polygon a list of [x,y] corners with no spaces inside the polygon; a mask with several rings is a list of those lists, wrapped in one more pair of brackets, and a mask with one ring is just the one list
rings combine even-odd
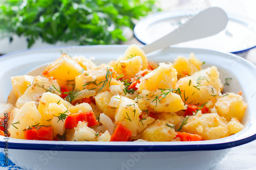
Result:
{"label": "white enamel baking dish with blue rim holding the potatoes", "polygon": [[[60,51],[71,56],[94,56],[95,63],[100,64],[116,59],[126,48],[127,45],[69,46],[4,55],[0,57],[0,102],[7,101],[12,89],[11,76],[23,75],[38,65],[54,61],[60,57]],[[206,62],[203,67],[217,66],[222,82],[225,82],[225,78],[232,78],[224,91],[243,92],[248,108],[242,120],[246,127],[241,132],[222,139],[189,142],[79,142],[8,138],[9,158],[27,169],[208,169],[216,165],[216,157],[223,159],[230,148],[256,139],[256,115],[252,114],[256,110],[256,67],[235,55],[195,48],[168,48],[148,57],[158,62],[173,62],[178,55],[188,57],[191,52]],[[0,136],[0,148],[5,147],[4,141],[5,138]]]}

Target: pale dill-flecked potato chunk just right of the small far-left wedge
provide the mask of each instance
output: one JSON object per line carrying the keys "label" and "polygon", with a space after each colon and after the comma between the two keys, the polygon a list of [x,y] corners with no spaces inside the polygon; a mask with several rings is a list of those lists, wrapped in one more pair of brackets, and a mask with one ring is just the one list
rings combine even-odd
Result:
{"label": "pale dill-flecked potato chunk just right of the small far-left wedge", "polygon": [[25,103],[34,101],[37,107],[43,93],[51,92],[60,95],[59,89],[59,85],[52,78],[36,76],[31,86],[29,86],[24,94],[17,100],[16,106],[19,109]]}

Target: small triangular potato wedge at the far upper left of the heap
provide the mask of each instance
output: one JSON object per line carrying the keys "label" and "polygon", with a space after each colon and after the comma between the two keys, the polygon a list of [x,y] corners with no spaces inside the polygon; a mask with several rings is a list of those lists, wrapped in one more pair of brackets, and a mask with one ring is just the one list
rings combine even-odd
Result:
{"label": "small triangular potato wedge at the far upper left of the heap", "polygon": [[11,77],[12,87],[17,96],[17,99],[20,98],[27,90],[27,88],[34,81],[33,76],[23,75],[23,76],[15,76]]}

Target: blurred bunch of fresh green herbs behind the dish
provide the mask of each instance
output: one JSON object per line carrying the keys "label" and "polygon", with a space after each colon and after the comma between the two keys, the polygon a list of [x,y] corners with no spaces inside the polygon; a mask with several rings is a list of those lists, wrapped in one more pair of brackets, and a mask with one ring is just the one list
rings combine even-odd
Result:
{"label": "blurred bunch of fresh green herbs behind the dish", "polygon": [[[40,38],[54,44],[116,44],[126,41],[123,28],[158,11],[154,0],[3,0],[0,35],[24,36],[31,47]],[[1,39],[0,37],[0,39]]]}

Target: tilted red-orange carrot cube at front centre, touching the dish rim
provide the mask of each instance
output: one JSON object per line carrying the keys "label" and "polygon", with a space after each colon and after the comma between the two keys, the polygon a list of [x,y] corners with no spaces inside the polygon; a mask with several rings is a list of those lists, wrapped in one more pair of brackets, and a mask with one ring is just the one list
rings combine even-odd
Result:
{"label": "tilted red-orange carrot cube at front centre, touching the dish rim", "polygon": [[110,138],[110,141],[128,141],[131,136],[132,131],[119,122],[116,130]]}

